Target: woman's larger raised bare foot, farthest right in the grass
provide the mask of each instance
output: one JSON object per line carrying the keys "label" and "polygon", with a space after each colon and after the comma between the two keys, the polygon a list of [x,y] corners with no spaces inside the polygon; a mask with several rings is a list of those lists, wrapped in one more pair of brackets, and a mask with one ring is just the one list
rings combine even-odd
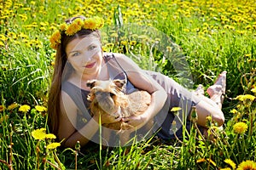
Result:
{"label": "woman's larger raised bare foot, farthest right in the grass", "polygon": [[226,74],[227,71],[223,71],[219,76],[217,81],[207,88],[207,94],[209,94],[210,98],[219,106],[219,108],[222,108],[222,103],[224,100],[223,94],[225,94],[226,90]]}

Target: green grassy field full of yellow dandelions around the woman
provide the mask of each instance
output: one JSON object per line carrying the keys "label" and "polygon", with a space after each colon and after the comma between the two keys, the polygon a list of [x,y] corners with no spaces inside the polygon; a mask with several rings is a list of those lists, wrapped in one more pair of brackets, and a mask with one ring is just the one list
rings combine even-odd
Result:
{"label": "green grassy field full of yellow dandelions around the woman", "polygon": [[[256,169],[254,0],[0,0],[0,9],[0,169]],[[46,125],[49,36],[78,14],[106,20],[105,51],[187,88],[207,88],[228,71],[224,132],[209,122],[214,140],[194,126],[183,141],[59,147]]]}

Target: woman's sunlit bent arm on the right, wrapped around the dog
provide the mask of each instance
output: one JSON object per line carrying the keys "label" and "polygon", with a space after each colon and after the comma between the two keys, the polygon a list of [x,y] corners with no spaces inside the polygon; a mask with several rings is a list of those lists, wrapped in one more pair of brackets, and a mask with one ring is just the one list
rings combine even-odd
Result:
{"label": "woman's sunlit bent arm on the right, wrapped around the dog", "polygon": [[151,94],[151,103],[148,110],[141,116],[130,116],[123,119],[134,127],[142,127],[148,120],[153,118],[165,105],[167,94],[164,88],[144,71],[131,59],[123,54],[115,54],[119,64],[125,70],[129,81],[136,87],[148,91]]}

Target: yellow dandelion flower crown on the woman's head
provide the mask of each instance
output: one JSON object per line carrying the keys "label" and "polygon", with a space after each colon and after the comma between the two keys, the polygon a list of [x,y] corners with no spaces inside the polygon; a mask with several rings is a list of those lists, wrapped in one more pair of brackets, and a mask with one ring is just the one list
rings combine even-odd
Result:
{"label": "yellow dandelion flower crown on the woman's head", "polygon": [[59,26],[59,30],[55,31],[51,37],[49,37],[50,47],[57,49],[61,43],[61,35],[66,34],[67,36],[73,36],[82,29],[98,30],[104,26],[104,20],[100,17],[92,18],[76,18],[69,23],[63,23]]}

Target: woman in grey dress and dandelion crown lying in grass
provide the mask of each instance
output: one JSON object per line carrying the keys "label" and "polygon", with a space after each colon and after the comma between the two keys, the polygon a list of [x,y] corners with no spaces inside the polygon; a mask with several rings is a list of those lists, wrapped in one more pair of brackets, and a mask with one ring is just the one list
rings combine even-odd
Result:
{"label": "woman in grey dress and dandelion crown lying in grass", "polygon": [[[73,147],[77,141],[83,146],[89,141],[100,142],[99,123],[128,122],[137,127],[143,135],[143,125],[154,118],[152,127],[162,139],[182,136],[183,120],[189,126],[191,107],[195,105],[197,124],[206,127],[206,117],[221,126],[224,115],[221,111],[222,94],[225,89],[225,71],[218,81],[207,89],[212,99],[197,93],[193,94],[171,78],[154,71],[143,71],[124,54],[104,54],[98,29],[103,26],[102,19],[85,19],[82,16],[67,20],[50,38],[51,47],[56,49],[55,71],[49,91],[49,127],[65,139],[62,144]],[[86,82],[92,79],[126,79],[125,93],[141,89],[151,94],[151,103],[142,116],[112,118],[111,116],[90,117],[87,95],[90,88]],[[192,95],[193,94],[193,95]],[[214,98],[214,99],[213,99]],[[218,105],[217,105],[218,103]],[[180,115],[170,110],[180,107]],[[172,122],[180,121],[177,132],[172,131]],[[116,144],[118,139],[106,141],[106,145]]]}

